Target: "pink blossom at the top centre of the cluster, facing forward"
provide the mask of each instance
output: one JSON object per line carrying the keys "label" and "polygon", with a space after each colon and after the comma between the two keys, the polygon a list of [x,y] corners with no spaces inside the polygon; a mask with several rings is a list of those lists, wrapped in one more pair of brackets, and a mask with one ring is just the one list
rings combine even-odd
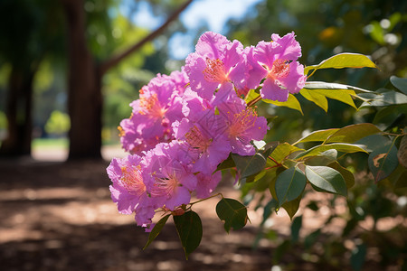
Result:
{"label": "pink blossom at the top centre of the cluster, facing forward", "polygon": [[202,98],[211,99],[214,91],[225,83],[232,82],[240,88],[245,70],[241,51],[241,42],[230,42],[219,33],[202,34],[195,52],[185,60],[191,89]]}

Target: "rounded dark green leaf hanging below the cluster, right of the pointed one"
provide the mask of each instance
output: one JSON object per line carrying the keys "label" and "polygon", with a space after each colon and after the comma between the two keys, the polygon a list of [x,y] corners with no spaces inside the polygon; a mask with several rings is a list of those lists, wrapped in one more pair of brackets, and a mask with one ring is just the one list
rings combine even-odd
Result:
{"label": "rounded dark green leaf hanging below the cluster, right of the pointed one", "polygon": [[227,233],[232,229],[241,229],[248,220],[247,209],[241,202],[223,198],[216,205],[216,213],[220,220],[224,221],[224,229]]}

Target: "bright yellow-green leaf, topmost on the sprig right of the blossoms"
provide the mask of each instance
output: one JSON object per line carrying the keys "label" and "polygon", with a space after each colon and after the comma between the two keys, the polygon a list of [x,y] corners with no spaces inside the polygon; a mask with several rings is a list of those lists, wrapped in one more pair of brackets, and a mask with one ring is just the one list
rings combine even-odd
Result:
{"label": "bright yellow-green leaf, topmost on the sprig right of the blossoms", "polygon": [[[313,72],[309,75],[311,76],[315,70],[319,69],[343,69],[343,68],[377,68],[374,62],[372,62],[367,56],[358,53],[339,53],[333,57],[328,58],[325,61],[321,61],[317,65],[308,66],[304,69],[304,74],[308,74],[309,71]],[[308,76],[308,77],[309,77]]]}

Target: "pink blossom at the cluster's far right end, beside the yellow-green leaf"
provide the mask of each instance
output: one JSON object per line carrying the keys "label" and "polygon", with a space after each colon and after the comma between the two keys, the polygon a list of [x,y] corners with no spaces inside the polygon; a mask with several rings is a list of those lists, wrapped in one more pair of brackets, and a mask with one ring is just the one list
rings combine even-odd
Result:
{"label": "pink blossom at the cluster's far right end, beside the yellow-green leaf", "polygon": [[[289,93],[298,93],[305,85],[307,77],[304,66],[299,64],[301,47],[295,40],[294,33],[288,33],[280,38],[278,34],[271,35],[272,42],[259,42],[252,59],[263,68],[257,77],[265,78],[260,95],[281,102],[287,101]],[[252,62],[252,66],[256,67]],[[256,72],[259,72],[256,69]]]}

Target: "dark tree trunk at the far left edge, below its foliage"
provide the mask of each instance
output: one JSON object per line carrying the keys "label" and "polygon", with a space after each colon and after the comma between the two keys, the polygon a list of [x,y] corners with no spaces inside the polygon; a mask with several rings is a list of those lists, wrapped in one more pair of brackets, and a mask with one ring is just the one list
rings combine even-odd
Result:
{"label": "dark tree trunk at the far left edge, below its foliage", "polygon": [[13,68],[10,73],[5,112],[8,135],[0,147],[1,155],[31,155],[33,77],[34,71],[28,69]]}

